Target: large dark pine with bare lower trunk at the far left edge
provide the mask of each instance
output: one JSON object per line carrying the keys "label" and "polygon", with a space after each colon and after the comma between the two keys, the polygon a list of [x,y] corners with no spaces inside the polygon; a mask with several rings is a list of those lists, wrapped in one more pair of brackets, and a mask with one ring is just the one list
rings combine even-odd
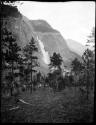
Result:
{"label": "large dark pine with bare lower trunk at the far left edge", "polygon": [[[11,86],[14,80],[14,63],[18,62],[20,47],[16,43],[13,34],[7,30],[7,28],[2,28],[2,38],[1,38],[1,53],[2,53],[2,71],[5,70],[5,66],[11,67]],[[7,65],[6,65],[7,64]],[[12,94],[12,87],[11,87]]]}

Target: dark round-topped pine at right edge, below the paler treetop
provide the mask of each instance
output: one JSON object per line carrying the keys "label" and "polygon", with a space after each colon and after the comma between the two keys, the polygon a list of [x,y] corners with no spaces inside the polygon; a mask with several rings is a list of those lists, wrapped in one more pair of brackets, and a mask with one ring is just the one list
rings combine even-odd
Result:
{"label": "dark round-topped pine at right edge, below the paler treetop", "polygon": [[[82,55],[83,59],[83,72],[85,75],[85,82],[86,82],[86,90],[87,90],[87,99],[89,95],[89,87],[91,86],[92,82],[94,82],[94,77],[95,77],[95,62],[93,60],[93,51],[90,49],[87,49],[84,54]],[[93,79],[91,79],[93,78]]]}

